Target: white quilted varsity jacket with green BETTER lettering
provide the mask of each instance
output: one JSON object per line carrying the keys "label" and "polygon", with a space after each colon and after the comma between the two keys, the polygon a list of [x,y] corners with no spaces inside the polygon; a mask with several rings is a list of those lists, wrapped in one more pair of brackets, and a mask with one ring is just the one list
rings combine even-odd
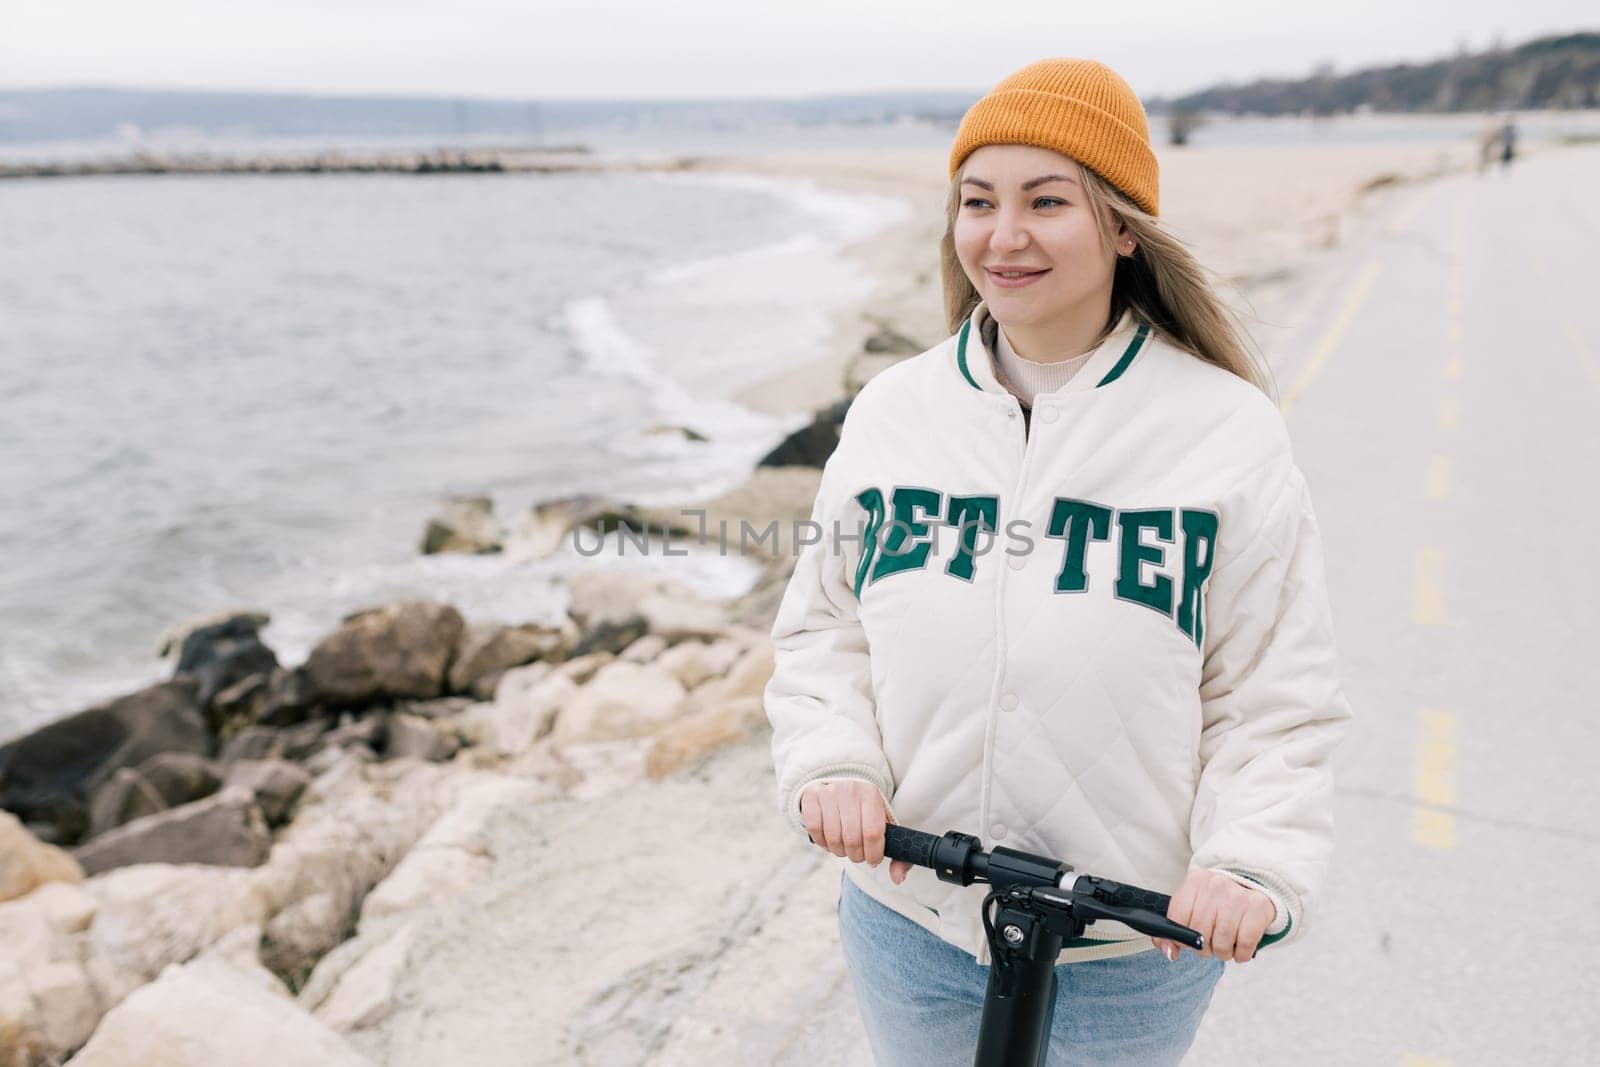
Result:
{"label": "white quilted varsity jacket with green BETTER lettering", "polygon": [[[1130,314],[1024,430],[987,322],[869,381],[822,469],[771,630],[784,819],[856,777],[901,825],[1085,873],[1226,872],[1274,899],[1262,945],[1301,936],[1350,709],[1282,414]],[[986,886],[845,867],[990,961]],[[1059,961],[1149,947],[1101,921]]]}

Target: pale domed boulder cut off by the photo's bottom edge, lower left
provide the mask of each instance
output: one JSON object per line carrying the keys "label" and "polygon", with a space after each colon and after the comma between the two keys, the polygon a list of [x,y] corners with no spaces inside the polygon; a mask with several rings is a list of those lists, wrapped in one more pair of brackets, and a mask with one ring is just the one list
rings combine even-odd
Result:
{"label": "pale domed boulder cut off by the photo's bottom edge, lower left", "polygon": [[267,971],[214,957],[171,966],[117,1005],[74,1067],[373,1067]]}

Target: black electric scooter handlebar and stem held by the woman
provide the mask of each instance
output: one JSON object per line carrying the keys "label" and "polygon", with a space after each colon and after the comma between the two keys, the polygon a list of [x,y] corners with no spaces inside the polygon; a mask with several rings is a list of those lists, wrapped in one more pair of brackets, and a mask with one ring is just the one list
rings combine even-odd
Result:
{"label": "black electric scooter handlebar and stem held by the woman", "polygon": [[1010,848],[984,851],[971,833],[934,837],[891,822],[883,854],[931,867],[941,881],[994,886],[982,904],[994,965],[973,1067],[1045,1067],[1061,942],[1082,937],[1094,920],[1115,920],[1141,934],[1205,949],[1197,931],[1166,918],[1171,897],[1163,893],[1083,875],[1045,856]]}

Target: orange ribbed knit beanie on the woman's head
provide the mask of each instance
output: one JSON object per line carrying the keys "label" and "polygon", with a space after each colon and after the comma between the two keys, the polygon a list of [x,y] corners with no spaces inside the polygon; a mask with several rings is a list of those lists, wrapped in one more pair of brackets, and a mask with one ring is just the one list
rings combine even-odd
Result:
{"label": "orange ribbed knit beanie on the woman's head", "polygon": [[1144,106],[1094,59],[1040,59],[968,109],[950,149],[950,178],[984,144],[1034,144],[1070,155],[1150,214],[1160,174]]}

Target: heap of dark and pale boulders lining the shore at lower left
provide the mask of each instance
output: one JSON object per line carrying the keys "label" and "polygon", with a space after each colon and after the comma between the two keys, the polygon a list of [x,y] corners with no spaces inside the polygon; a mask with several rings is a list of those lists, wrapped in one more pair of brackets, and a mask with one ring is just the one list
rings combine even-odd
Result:
{"label": "heap of dark and pale boulders lining the shore at lower left", "polygon": [[765,721],[765,633],[664,579],[582,573],[560,627],[384,605],[296,667],[264,622],[194,625],[171,680],[0,749],[0,1064],[362,1062],[293,993],[470,885],[494,803],[659,779]]}

